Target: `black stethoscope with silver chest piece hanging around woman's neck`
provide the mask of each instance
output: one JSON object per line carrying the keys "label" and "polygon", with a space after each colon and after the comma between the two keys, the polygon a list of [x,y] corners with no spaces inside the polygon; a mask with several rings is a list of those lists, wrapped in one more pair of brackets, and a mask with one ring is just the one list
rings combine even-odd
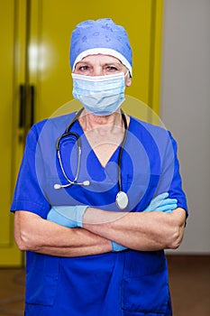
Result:
{"label": "black stethoscope with silver chest piece hanging around woman's neck", "polygon": [[[84,110],[84,108],[81,108],[78,111],[77,115],[68,124],[68,127],[67,127],[66,131],[62,135],[60,135],[59,138],[56,141],[56,152],[57,152],[58,159],[59,159],[59,167],[61,169],[61,172],[62,172],[64,178],[66,179],[66,181],[68,181],[68,183],[66,183],[66,184],[55,183],[54,184],[54,189],[55,190],[68,188],[69,186],[71,186],[73,184],[83,185],[83,186],[89,186],[90,185],[90,181],[88,181],[88,180],[85,180],[85,181],[82,181],[82,182],[78,182],[78,174],[79,174],[79,170],[80,170],[81,153],[82,153],[81,140],[80,140],[80,137],[79,137],[79,135],[77,133],[70,132],[70,129],[71,129],[72,125],[74,125],[74,123],[78,120],[78,117],[81,115],[83,110]],[[127,134],[128,134],[128,125],[127,125],[127,120],[126,120],[126,117],[125,117],[122,109],[121,109],[121,115],[122,115],[122,118],[123,118],[124,135],[123,135],[123,142],[121,144],[120,153],[119,153],[119,157],[118,157],[117,178],[118,178],[119,192],[116,195],[115,202],[116,202],[116,205],[117,205],[118,209],[125,209],[127,207],[127,205],[128,205],[128,195],[127,195],[126,192],[123,191],[123,188],[122,188],[121,168],[122,168],[123,148],[124,148],[124,144],[126,142]],[[67,136],[75,136],[77,147],[78,147],[78,166],[77,166],[77,171],[76,171],[76,175],[75,175],[74,180],[70,180],[68,178],[68,175],[67,175],[67,173],[64,170],[63,163],[62,163],[62,158],[61,158],[61,155],[60,155],[61,140],[63,140]]]}

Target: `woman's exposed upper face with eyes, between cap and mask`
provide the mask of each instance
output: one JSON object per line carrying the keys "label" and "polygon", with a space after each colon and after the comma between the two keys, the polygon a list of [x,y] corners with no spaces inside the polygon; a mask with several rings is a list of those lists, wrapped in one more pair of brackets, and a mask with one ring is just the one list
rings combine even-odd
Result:
{"label": "woman's exposed upper face with eyes, between cap and mask", "polygon": [[127,68],[117,58],[110,55],[88,55],[83,60],[78,61],[74,73],[85,76],[106,76],[114,73],[123,72],[125,76],[125,85],[130,87],[132,79]]}

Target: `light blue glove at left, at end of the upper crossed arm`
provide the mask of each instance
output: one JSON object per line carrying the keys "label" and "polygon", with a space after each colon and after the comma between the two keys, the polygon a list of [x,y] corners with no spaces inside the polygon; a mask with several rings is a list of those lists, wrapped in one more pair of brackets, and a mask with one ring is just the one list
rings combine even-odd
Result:
{"label": "light blue glove at left, at end of the upper crossed arm", "polygon": [[52,206],[47,219],[67,228],[82,228],[87,205]]}

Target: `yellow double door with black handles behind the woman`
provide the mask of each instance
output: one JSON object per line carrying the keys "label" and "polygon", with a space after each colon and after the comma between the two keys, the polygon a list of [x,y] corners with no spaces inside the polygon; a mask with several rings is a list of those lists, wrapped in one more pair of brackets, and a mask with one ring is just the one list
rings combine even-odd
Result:
{"label": "yellow double door with black handles behind the woman", "polygon": [[[163,0],[1,1],[0,265],[22,262],[9,209],[24,136],[32,121],[51,116],[72,100],[68,51],[75,25],[111,17],[125,27],[133,49],[132,87],[127,94],[158,112],[162,7]],[[141,116],[138,107],[131,114]]]}

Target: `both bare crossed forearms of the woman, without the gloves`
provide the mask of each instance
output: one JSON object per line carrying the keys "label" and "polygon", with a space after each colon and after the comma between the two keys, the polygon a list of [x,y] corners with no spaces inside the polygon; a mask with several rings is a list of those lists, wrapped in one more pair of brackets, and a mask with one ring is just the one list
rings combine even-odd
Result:
{"label": "both bare crossed forearms of the woman, without the gloves", "polygon": [[88,256],[112,251],[113,240],[134,250],[177,248],[186,211],[112,212],[88,208],[83,228],[66,228],[29,211],[16,211],[14,237],[21,250],[51,256]]}

